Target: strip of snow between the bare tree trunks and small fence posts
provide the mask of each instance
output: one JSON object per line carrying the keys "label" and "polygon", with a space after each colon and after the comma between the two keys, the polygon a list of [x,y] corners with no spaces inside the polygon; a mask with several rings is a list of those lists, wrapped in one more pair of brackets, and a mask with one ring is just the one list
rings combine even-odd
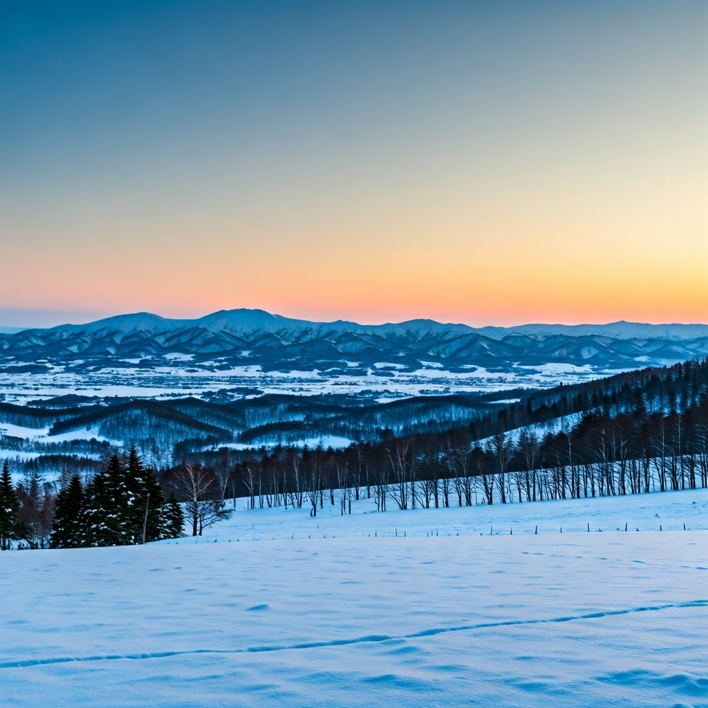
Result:
{"label": "strip of snow between the bare tree trunks and small fence posts", "polygon": [[[452,483],[451,483],[452,487]],[[367,499],[352,501],[352,513],[341,515],[335,492],[331,506],[325,493],[324,508],[317,508],[317,516],[309,516],[309,501],[301,509],[256,508],[246,510],[244,498],[236,500],[236,511],[231,518],[207,527],[201,537],[187,537],[161,543],[211,543],[228,541],[263,541],[285,539],[316,539],[331,537],[389,537],[389,536],[479,536],[479,535],[544,535],[588,532],[640,532],[652,530],[708,530],[708,489],[635,494],[624,497],[595,497],[535,501],[523,503],[481,504],[479,506],[450,506],[450,508],[416,508],[400,511],[396,503],[387,500],[387,511],[376,510],[374,491]],[[442,503],[442,495],[441,501]],[[451,491],[450,503],[457,504],[457,495]],[[256,497],[258,505],[258,497]],[[229,502],[232,507],[232,502]]]}

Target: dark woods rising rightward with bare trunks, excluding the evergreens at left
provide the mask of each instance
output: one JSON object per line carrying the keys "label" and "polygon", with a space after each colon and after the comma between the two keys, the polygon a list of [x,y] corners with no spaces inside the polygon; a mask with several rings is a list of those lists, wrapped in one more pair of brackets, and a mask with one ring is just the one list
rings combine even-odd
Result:
{"label": "dark woods rising rightward with bare trunks, excluding the evergreens at left", "polygon": [[[249,508],[306,505],[313,516],[327,500],[348,513],[362,493],[384,511],[708,486],[707,362],[568,388],[445,433],[384,430],[346,450],[222,449],[193,467]],[[529,423],[556,413],[555,431]]]}

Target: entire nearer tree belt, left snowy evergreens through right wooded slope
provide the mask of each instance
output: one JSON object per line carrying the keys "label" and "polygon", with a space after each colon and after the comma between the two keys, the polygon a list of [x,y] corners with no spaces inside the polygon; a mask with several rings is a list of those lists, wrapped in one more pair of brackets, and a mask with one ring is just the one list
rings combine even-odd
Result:
{"label": "entire nearer tree belt, left snowy evergreens through right wooded slope", "polygon": [[384,428],[341,450],[215,447],[155,470],[132,446],[98,472],[67,463],[58,484],[31,469],[13,484],[6,462],[0,482],[2,549],[200,535],[236,497],[316,517],[362,496],[384,512],[705,488],[708,360],[533,392],[445,430]]}

